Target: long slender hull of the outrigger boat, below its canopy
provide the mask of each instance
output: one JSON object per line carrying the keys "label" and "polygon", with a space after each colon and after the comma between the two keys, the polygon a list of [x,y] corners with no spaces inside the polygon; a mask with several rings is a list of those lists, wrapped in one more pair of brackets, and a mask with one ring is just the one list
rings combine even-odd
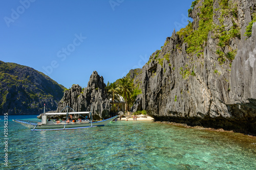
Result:
{"label": "long slender hull of the outrigger boat, below its canopy", "polygon": [[98,127],[98,126],[105,126],[106,124],[110,123],[112,120],[117,118],[117,116],[111,117],[109,119],[101,120],[99,122],[93,122],[90,123],[89,121],[87,122],[76,122],[76,123],[49,123],[46,125],[42,125],[41,123],[29,123],[25,120],[13,120],[14,122],[21,124],[27,128],[32,129],[31,131],[36,131],[36,130],[69,130],[69,129],[82,129],[82,128],[91,128],[91,127]]}

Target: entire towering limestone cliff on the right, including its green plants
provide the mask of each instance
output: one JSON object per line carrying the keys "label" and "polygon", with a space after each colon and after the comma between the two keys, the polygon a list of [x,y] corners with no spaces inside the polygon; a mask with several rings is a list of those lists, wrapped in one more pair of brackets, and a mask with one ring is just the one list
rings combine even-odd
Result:
{"label": "entire towering limestone cliff on the right, including its green plants", "polygon": [[155,120],[256,134],[256,2],[195,1],[193,22],[167,37],[135,80],[132,111]]}

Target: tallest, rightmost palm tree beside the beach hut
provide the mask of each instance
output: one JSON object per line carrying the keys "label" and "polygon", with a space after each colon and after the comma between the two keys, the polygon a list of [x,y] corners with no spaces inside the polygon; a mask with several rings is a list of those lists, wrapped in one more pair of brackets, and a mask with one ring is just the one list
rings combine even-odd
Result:
{"label": "tallest, rightmost palm tree beside the beach hut", "polygon": [[122,78],[120,81],[120,93],[124,96],[125,98],[125,111],[128,110],[128,105],[127,105],[127,98],[130,98],[131,93],[133,92],[133,82],[131,81],[130,78]]}

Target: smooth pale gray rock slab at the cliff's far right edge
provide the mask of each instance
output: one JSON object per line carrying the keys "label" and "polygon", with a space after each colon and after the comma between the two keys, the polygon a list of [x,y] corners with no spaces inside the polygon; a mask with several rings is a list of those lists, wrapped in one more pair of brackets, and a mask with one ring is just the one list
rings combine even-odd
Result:
{"label": "smooth pale gray rock slab at the cliff's far right edge", "polygon": [[[252,36],[242,40],[231,68],[232,99],[236,103],[253,103],[256,99],[256,23]],[[250,101],[252,100],[252,101]],[[255,102],[255,101],[254,101]],[[255,108],[254,108],[255,109]]]}

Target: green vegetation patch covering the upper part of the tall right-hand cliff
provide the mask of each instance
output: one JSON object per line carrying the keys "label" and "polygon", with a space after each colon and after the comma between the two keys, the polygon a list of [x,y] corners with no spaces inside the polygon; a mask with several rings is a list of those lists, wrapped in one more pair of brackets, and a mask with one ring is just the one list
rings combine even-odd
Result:
{"label": "green vegetation patch covering the upper part of the tall right-hand cliff", "polygon": [[[191,17],[193,10],[199,1],[194,1],[191,8],[188,10],[188,14]],[[220,13],[218,18],[219,24],[214,23],[213,17],[216,15],[214,11],[214,2],[212,0],[205,0],[202,6],[197,7],[200,12],[196,15],[199,17],[198,28],[194,30],[194,22],[188,23],[185,28],[182,28],[177,34],[183,38],[183,41],[187,43],[186,52],[188,54],[197,54],[201,56],[206,46],[209,32],[214,34],[214,38],[218,39],[219,43],[216,54],[219,56],[218,61],[223,64],[226,59],[232,61],[237,51],[230,48],[230,41],[232,39],[240,39],[240,27],[238,26],[238,4],[232,3],[228,0],[220,0],[219,8],[215,9],[216,13]],[[195,15],[195,14],[194,14]],[[194,16],[195,17],[195,16]],[[229,29],[224,24],[224,20],[230,18],[232,21],[232,27]],[[252,24],[251,24],[252,25]],[[248,26],[248,36],[250,35],[250,26]],[[247,34],[247,33],[246,33]],[[225,52],[225,47],[228,47],[229,52]]]}

